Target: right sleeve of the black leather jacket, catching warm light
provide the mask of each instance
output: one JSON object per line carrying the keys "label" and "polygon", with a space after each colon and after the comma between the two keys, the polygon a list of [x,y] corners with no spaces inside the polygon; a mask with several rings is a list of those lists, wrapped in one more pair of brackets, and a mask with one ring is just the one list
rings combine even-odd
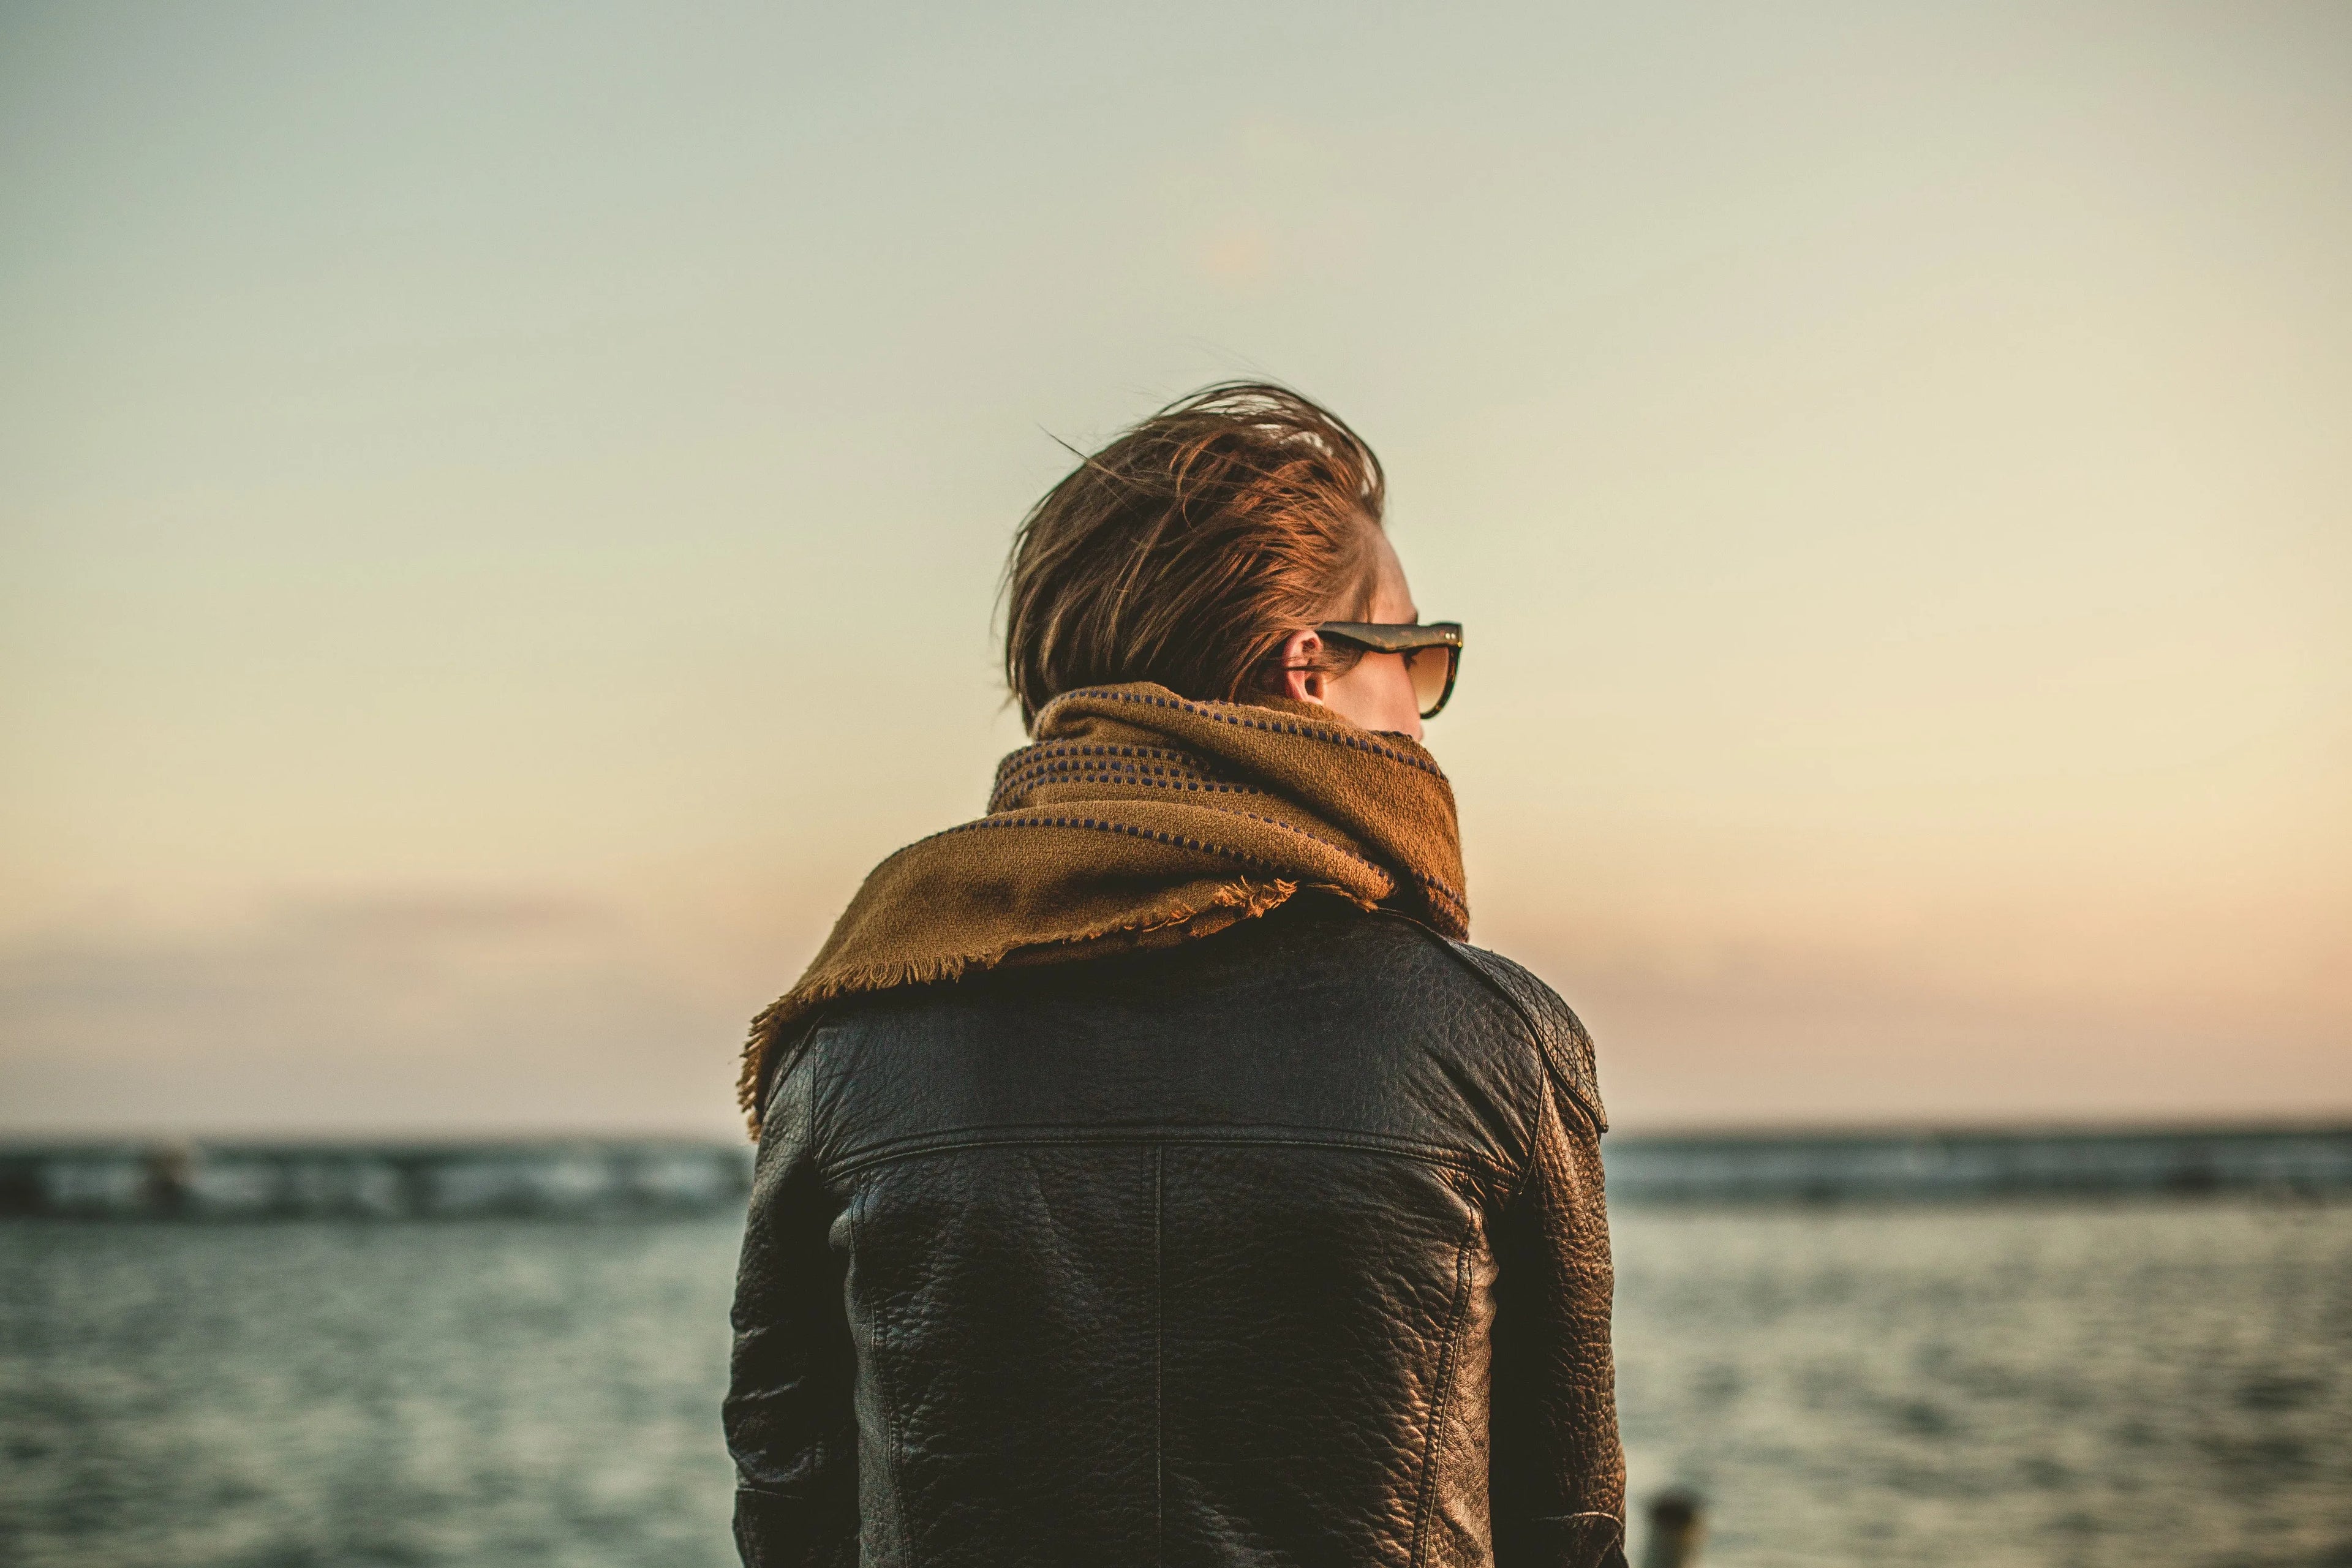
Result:
{"label": "right sleeve of the black leather jacket, catching warm light", "polygon": [[1609,1352],[1616,1274],[1592,1041],[1550,987],[1526,971],[1515,978],[1541,992],[1515,1001],[1545,1072],[1526,1171],[1494,1227],[1494,1559],[1496,1568],[1623,1568],[1625,1453]]}

